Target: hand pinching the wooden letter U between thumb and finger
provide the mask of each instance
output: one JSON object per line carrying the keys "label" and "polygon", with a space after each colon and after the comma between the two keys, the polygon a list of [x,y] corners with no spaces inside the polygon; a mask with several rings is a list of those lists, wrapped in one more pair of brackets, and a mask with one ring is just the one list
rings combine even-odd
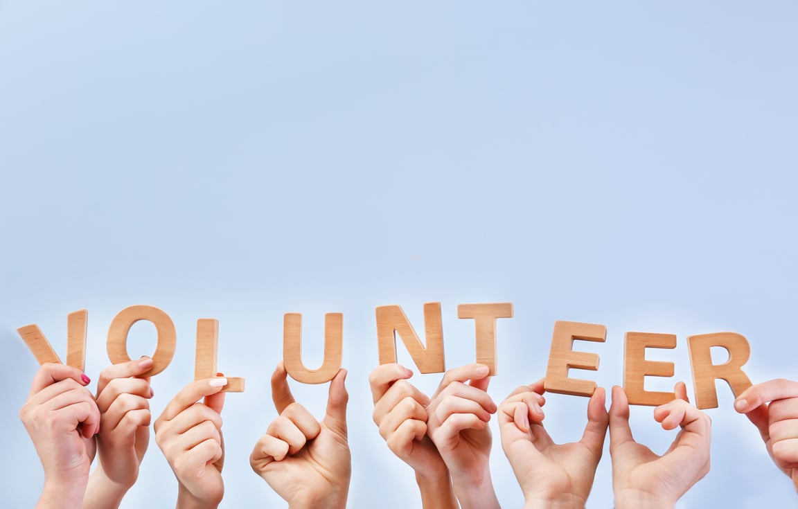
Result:
{"label": "hand pinching the wooden letter U between thumb and finger", "polygon": [[344,509],[352,459],[346,428],[346,369],[330,381],[322,420],[298,404],[282,362],[271,376],[271,396],[279,416],[255,444],[250,465],[290,509]]}

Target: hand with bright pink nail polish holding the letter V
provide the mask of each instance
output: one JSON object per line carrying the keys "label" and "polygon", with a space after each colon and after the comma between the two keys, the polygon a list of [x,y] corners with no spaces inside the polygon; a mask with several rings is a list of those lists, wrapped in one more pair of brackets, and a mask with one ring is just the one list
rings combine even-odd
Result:
{"label": "hand with bright pink nail polish holding the letter V", "polygon": [[41,365],[19,416],[45,472],[36,509],[81,507],[100,431],[100,411],[80,369]]}

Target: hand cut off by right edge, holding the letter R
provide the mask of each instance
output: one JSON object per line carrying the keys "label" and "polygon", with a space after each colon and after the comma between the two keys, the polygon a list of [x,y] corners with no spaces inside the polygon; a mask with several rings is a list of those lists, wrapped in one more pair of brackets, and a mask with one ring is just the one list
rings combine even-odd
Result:
{"label": "hand cut off by right edge, holding the letter R", "polygon": [[757,426],[773,463],[798,491],[798,382],[778,378],[752,385],[734,409]]}

